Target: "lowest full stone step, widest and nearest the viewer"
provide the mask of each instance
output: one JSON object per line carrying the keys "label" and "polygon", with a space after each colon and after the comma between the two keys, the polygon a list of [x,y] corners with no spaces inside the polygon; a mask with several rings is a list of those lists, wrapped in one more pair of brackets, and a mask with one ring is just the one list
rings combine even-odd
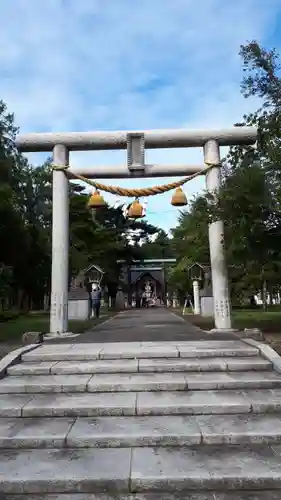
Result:
{"label": "lowest full stone step, widest and nearest the viewer", "polygon": [[3,450],[0,470],[3,494],[272,489],[281,495],[280,445]]}

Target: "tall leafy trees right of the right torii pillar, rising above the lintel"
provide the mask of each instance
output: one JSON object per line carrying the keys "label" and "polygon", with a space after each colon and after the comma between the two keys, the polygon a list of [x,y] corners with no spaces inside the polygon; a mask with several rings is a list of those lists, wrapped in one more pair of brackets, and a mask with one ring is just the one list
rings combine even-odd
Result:
{"label": "tall leafy trees right of the right torii pillar, rising above the lintel", "polygon": [[260,106],[238,125],[257,126],[259,138],[255,149],[231,148],[221,200],[228,228],[229,221],[233,223],[229,245],[237,275],[244,272],[237,280],[238,288],[271,291],[279,286],[281,261],[280,57],[275,49],[265,50],[257,41],[242,45],[240,56],[242,94],[258,98]]}

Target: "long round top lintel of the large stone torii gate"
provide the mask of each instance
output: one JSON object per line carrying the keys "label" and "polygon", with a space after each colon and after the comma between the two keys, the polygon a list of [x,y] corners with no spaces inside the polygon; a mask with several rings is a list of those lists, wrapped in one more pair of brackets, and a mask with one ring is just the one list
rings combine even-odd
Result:
{"label": "long round top lintel of the large stone torii gate", "polygon": [[128,134],[143,135],[147,149],[202,147],[209,140],[216,140],[220,146],[251,145],[257,140],[257,129],[247,126],[220,130],[40,132],[19,135],[16,145],[22,152],[48,152],[57,144],[70,151],[127,149]]}

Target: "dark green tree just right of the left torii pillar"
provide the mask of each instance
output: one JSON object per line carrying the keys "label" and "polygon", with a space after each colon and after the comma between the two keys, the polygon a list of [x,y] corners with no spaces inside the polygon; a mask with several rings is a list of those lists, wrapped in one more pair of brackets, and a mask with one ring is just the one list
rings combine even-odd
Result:
{"label": "dark green tree just right of the left torii pillar", "polygon": [[110,294],[115,295],[121,264],[143,258],[143,238],[156,231],[145,221],[124,217],[122,207],[90,211],[88,195],[72,194],[70,198],[70,274],[74,276],[90,264],[98,264],[105,272]]}

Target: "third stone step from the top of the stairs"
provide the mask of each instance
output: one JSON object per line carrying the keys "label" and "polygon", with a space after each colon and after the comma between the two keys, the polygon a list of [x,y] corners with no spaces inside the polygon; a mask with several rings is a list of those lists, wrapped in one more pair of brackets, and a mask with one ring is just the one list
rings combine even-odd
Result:
{"label": "third stone step from the top of the stairs", "polygon": [[85,375],[18,375],[0,380],[0,393],[184,391],[281,387],[273,371],[211,373],[106,373]]}

